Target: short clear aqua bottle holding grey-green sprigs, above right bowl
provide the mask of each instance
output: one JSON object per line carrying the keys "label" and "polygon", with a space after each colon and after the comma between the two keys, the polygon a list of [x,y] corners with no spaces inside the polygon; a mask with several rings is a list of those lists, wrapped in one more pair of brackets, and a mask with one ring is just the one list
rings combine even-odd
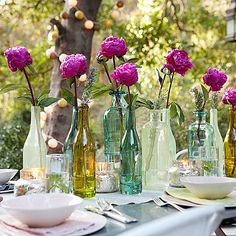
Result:
{"label": "short clear aqua bottle holding grey-green sprigs, above right bowl", "polygon": [[193,112],[196,121],[188,128],[188,158],[196,161],[200,175],[217,176],[218,166],[213,147],[213,127],[206,122],[206,112]]}

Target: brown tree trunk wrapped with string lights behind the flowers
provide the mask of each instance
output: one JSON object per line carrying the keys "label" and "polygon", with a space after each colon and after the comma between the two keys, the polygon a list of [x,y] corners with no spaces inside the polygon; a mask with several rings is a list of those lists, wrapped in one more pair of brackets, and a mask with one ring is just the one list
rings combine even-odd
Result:
{"label": "brown tree trunk wrapped with string lights behind the flowers", "polygon": [[[87,19],[95,21],[101,0],[78,0],[77,2],[77,7],[84,12]],[[66,4],[65,10],[69,12],[68,19],[63,20],[62,23],[56,19],[51,20],[59,31],[59,37],[55,42],[56,53],[57,55],[84,54],[89,65],[94,30],[84,29],[84,20],[78,21],[74,17],[76,8],[70,9]],[[69,89],[66,80],[60,77],[60,61],[56,59],[52,70],[50,96],[60,97],[61,88]],[[55,105],[46,113],[47,122],[44,126],[44,134],[47,135],[47,141],[54,138],[60,142],[56,148],[49,147],[49,153],[60,153],[70,128],[72,107],[68,105],[60,108]]]}

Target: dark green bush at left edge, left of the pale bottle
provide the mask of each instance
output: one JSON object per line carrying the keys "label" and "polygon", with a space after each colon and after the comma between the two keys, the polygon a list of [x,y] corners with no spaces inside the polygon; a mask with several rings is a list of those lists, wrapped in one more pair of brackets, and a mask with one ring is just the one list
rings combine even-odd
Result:
{"label": "dark green bush at left edge, left of the pale bottle", "polygon": [[29,129],[24,119],[28,115],[26,111],[14,114],[0,125],[0,168],[22,169],[22,149]]}

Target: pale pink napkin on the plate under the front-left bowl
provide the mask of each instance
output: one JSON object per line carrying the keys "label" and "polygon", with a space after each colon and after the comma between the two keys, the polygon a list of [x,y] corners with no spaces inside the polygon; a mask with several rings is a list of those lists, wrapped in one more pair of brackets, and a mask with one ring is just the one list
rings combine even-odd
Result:
{"label": "pale pink napkin on the plate under the front-left bowl", "polygon": [[63,236],[73,233],[82,235],[83,231],[86,231],[92,226],[94,226],[94,223],[80,222],[78,218],[73,217],[73,215],[60,225],[50,228],[30,228],[10,215],[0,216],[1,236]]}

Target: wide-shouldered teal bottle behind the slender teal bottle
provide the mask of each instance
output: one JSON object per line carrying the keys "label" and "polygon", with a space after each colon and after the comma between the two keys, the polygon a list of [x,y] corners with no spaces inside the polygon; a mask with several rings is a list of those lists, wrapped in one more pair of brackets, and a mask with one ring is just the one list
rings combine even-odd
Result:
{"label": "wide-shouldered teal bottle behind the slender teal bottle", "polygon": [[116,169],[120,168],[120,145],[125,131],[126,101],[124,91],[113,91],[112,105],[105,111],[104,127],[104,154],[107,162],[114,162]]}

